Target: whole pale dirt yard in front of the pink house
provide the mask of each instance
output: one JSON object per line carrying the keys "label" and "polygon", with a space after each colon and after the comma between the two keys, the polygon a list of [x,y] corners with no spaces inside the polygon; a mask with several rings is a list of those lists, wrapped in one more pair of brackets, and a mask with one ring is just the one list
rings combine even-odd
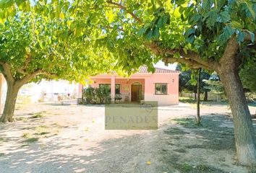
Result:
{"label": "whole pale dirt yard in front of the pink house", "polygon": [[0,172],[254,172],[236,164],[226,105],[202,105],[200,127],[193,105],[158,107],[158,130],[104,130],[103,105],[15,111],[0,123]]}

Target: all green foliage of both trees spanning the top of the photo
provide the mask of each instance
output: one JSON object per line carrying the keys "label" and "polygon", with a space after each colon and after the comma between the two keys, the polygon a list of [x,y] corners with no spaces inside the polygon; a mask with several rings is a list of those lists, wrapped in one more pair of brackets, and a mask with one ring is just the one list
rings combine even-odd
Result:
{"label": "all green foliage of both trees spanning the top of the photo", "polygon": [[[256,29],[254,0],[125,0],[121,4],[103,0],[41,0],[33,6],[28,1],[20,3],[9,0],[0,6],[8,9],[0,12],[4,25],[10,19],[12,22],[14,19],[27,21],[25,33],[30,33],[30,40],[25,44],[15,43],[22,43],[19,47],[22,50],[19,51],[22,52],[20,57],[24,57],[26,51],[34,53],[38,50],[40,59],[35,61],[47,59],[46,63],[40,63],[44,64],[46,71],[57,73],[58,77],[65,79],[74,79],[74,74],[81,79],[81,76],[109,71],[110,68],[121,74],[124,74],[123,71],[132,74],[144,64],[153,71],[153,63],[168,56],[161,53],[152,55],[148,45],[153,41],[161,48],[182,48],[186,53],[192,50],[200,54],[202,59],[218,61],[231,35],[236,34],[237,41],[245,45],[245,35],[249,33],[254,40]],[[15,33],[24,30],[22,28],[17,28]],[[32,41],[33,46],[28,49],[26,43]],[[48,58],[50,55],[57,58]],[[247,58],[250,57],[248,54]],[[180,58],[179,53],[174,58]],[[25,58],[19,66],[24,65],[24,61]],[[52,65],[56,62],[59,66]],[[37,64],[36,68],[38,66],[41,65]],[[22,74],[17,73],[17,76]]]}

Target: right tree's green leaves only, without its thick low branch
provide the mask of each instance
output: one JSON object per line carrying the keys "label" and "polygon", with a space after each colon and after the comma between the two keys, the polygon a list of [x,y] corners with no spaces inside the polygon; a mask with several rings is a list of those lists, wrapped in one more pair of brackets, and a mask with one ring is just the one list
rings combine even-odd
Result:
{"label": "right tree's green leaves only, without its thick low branch", "polygon": [[[117,66],[132,73],[139,66],[159,61],[147,44],[192,50],[203,59],[218,61],[226,42],[236,34],[242,45],[246,33],[254,40],[255,1],[74,1],[90,23],[95,48],[106,48]],[[106,50],[105,50],[106,51]],[[179,58],[175,56],[174,58]],[[250,58],[250,56],[247,56]],[[129,74],[130,74],[129,73]]]}

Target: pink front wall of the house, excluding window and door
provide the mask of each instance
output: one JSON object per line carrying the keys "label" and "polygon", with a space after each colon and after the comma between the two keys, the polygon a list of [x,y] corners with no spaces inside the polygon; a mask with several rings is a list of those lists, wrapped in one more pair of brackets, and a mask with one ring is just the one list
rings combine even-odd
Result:
{"label": "pink front wall of the house, excluding window and door", "polygon": [[[179,104],[179,73],[174,74],[134,74],[129,78],[112,75],[115,84],[121,84],[121,94],[129,94],[131,97],[131,85],[135,82],[142,84],[145,101],[158,101],[158,105],[178,105]],[[98,75],[91,78],[95,83],[92,87],[99,84],[111,84],[111,75]],[[167,83],[167,94],[155,94],[155,83]]]}

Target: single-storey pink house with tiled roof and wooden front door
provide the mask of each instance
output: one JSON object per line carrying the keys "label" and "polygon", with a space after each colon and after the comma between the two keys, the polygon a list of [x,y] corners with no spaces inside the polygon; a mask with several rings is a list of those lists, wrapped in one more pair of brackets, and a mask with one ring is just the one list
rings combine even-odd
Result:
{"label": "single-storey pink house with tiled roof and wooden front door", "polygon": [[[147,66],[141,66],[139,71],[129,78],[117,74],[101,74],[91,77],[92,87],[108,85],[111,99],[114,102],[158,101],[158,105],[179,104],[179,71],[155,68],[155,73],[149,73]],[[80,84],[80,93],[82,85]]]}

